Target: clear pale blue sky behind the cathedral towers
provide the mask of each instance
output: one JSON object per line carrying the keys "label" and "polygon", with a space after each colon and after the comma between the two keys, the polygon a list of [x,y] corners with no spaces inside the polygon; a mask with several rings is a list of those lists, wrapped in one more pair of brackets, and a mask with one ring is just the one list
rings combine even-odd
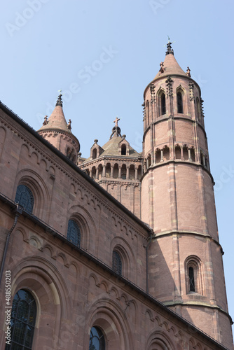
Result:
{"label": "clear pale blue sky behind the cathedral towers", "polygon": [[212,175],[216,182],[230,315],[233,298],[233,0],[11,0],[1,4],[0,99],[38,130],[57,90],[64,113],[90,155],[108,141],[118,116],[122,134],[142,151],[146,85],[174,56],[202,90]]}

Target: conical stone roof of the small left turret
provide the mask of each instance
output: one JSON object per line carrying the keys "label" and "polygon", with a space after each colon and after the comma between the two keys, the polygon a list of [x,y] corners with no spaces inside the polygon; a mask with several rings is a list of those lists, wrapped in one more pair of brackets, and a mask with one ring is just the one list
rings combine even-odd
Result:
{"label": "conical stone roof of the small left turret", "polygon": [[70,123],[67,124],[66,118],[64,117],[64,113],[62,110],[62,94],[57,98],[57,103],[55,105],[55,109],[53,110],[50,118],[45,117],[45,121],[43,126],[38,130],[60,130],[67,132],[68,134],[72,134]]}

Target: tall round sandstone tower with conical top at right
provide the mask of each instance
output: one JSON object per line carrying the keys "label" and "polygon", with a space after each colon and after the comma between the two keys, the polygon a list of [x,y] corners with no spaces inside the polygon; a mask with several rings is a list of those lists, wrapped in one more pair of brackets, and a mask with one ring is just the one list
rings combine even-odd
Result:
{"label": "tall round sandstone tower with conical top at right", "polygon": [[149,293],[230,349],[222,248],[216,223],[200,87],[167,43],[144,91],[142,220],[149,246]]}

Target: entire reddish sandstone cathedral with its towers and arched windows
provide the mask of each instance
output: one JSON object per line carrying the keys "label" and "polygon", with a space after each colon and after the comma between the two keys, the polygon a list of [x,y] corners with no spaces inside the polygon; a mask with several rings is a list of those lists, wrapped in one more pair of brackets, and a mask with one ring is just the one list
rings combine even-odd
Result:
{"label": "entire reddish sandstone cathedral with its towers and arched windows", "polygon": [[142,152],[0,102],[0,348],[233,350],[202,98],[167,43]]}

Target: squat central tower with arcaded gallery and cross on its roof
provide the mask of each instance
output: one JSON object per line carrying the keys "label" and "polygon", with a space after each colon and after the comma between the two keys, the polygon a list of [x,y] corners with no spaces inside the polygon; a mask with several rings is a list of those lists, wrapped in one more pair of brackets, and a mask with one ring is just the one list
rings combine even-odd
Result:
{"label": "squat central tower with arcaded gallery and cross on its roof", "polygon": [[[100,186],[140,217],[140,181],[142,156],[121,136],[118,118],[114,121],[111,137],[104,146],[98,140],[90,148],[90,157],[78,157],[78,166]],[[81,155],[79,153],[78,155]]]}

